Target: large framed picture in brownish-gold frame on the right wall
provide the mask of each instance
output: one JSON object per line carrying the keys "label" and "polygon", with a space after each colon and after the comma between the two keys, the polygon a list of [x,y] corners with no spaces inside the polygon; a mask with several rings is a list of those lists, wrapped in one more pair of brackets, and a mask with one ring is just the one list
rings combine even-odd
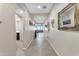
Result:
{"label": "large framed picture in brownish-gold frame on the right wall", "polygon": [[79,16],[77,4],[70,3],[58,13],[58,29],[79,31]]}

